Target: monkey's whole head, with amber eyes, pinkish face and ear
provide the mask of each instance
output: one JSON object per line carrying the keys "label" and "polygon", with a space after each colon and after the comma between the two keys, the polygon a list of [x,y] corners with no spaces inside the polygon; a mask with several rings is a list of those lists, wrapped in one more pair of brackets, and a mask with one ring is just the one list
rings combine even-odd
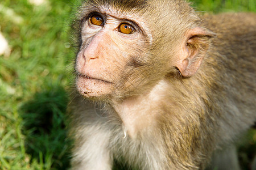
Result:
{"label": "monkey's whole head, with amber eyes, pinkish face and ear", "polygon": [[177,0],[88,0],[77,16],[77,90],[97,99],[141,95],[179,72],[192,76],[212,36]]}

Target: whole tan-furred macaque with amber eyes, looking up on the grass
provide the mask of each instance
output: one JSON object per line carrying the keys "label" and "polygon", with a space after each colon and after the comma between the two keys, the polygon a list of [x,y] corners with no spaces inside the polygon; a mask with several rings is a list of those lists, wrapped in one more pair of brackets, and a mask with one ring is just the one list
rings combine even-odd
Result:
{"label": "whole tan-furred macaque with amber eyes, looking up on the grass", "polygon": [[86,0],[69,110],[72,169],[239,169],[254,124],[256,15],[183,0]]}

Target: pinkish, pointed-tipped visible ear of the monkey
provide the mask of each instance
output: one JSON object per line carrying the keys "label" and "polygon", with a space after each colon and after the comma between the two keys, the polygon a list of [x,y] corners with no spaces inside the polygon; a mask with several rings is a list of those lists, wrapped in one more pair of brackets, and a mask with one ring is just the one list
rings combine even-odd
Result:
{"label": "pinkish, pointed-tipped visible ear of the monkey", "polygon": [[184,77],[192,76],[199,69],[210,46],[210,38],[215,34],[207,29],[196,27],[185,33],[185,39],[176,67]]}

